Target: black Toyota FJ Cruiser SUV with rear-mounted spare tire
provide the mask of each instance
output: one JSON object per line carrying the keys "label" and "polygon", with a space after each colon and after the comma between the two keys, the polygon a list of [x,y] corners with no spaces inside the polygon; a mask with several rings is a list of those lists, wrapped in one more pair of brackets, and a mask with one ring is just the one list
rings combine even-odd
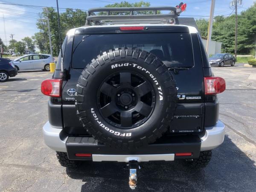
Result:
{"label": "black Toyota FJ Cruiser SUV with rear-mounted spare tire", "polygon": [[[213,76],[194,27],[162,20],[166,15],[157,15],[157,24],[145,20],[155,15],[142,17],[145,24],[120,24],[141,17],[92,14],[149,9],[163,8],[92,9],[86,26],[67,33],[53,78],[41,87],[50,96],[44,141],[62,166],[128,162],[131,181],[142,161],[204,167],[223,142],[217,93],[225,81]],[[179,8],[168,9],[177,16]]]}

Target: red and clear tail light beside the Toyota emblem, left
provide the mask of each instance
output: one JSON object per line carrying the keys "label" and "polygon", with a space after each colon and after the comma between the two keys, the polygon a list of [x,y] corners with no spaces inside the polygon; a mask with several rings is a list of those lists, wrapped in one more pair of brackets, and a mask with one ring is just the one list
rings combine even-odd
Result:
{"label": "red and clear tail light beside the Toyota emblem, left", "polygon": [[52,97],[61,97],[61,79],[47,79],[41,83],[41,92]]}

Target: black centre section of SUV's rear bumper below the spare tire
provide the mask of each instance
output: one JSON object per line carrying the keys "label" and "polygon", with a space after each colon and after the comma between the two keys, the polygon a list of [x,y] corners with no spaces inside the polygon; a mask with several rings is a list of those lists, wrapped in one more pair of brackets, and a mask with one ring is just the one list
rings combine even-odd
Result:
{"label": "black centre section of SUV's rear bumper below the spare tire", "polygon": [[[126,158],[141,156],[141,161],[147,160],[171,160],[175,153],[191,152],[192,156],[175,157],[180,158],[197,158],[199,157],[201,140],[197,135],[188,136],[169,136],[161,138],[159,142],[149,144],[140,148],[119,149],[109,147],[98,143],[93,137],[68,137],[66,142],[67,154],[70,160],[93,160],[94,161],[113,161],[113,155],[120,156],[116,161],[125,162]],[[92,157],[76,157],[75,154],[92,154]],[[158,159],[154,155],[159,154],[162,157]],[[102,156],[105,155],[105,156]],[[149,155],[148,158],[142,155]],[[95,157],[95,158],[94,158]]]}

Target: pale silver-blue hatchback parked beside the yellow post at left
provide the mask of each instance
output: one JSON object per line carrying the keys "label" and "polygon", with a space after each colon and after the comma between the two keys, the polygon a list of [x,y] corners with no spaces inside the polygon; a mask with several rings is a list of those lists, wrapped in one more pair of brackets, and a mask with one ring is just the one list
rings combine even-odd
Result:
{"label": "pale silver-blue hatchback parked beside the yellow post at left", "polygon": [[[54,58],[53,58],[54,61]],[[20,70],[50,70],[52,56],[47,54],[23,55],[11,61]]]}

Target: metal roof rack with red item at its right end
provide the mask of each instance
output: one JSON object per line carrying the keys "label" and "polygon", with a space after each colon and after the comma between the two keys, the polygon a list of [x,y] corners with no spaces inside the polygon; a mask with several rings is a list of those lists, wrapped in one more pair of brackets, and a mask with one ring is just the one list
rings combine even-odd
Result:
{"label": "metal roof rack with red item at its right end", "polygon": [[[113,25],[113,24],[138,24],[138,23],[172,23],[178,24],[177,17],[186,9],[186,3],[176,7],[103,7],[88,10],[85,25]],[[151,11],[152,14],[143,14]],[[168,14],[157,14],[157,11],[170,11]],[[96,15],[103,12],[106,15]],[[127,15],[114,15],[122,13]],[[137,15],[138,14],[138,15]]]}

